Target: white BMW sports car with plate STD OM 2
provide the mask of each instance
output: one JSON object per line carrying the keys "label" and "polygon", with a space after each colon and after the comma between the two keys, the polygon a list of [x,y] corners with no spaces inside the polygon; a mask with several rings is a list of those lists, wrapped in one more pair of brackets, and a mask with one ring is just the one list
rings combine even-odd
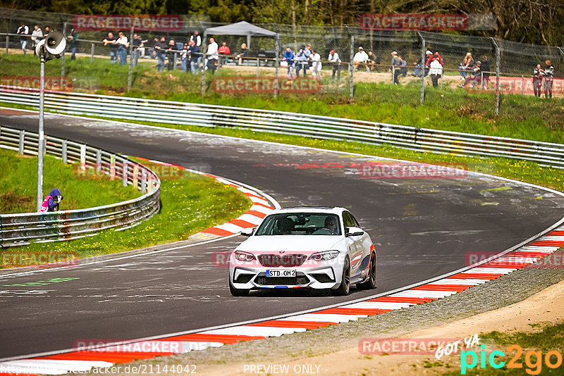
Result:
{"label": "white BMW sports car with plate STD OM 2", "polygon": [[272,211],[231,253],[229,289],[331,289],[347,295],[350,284],[376,287],[376,249],[345,208],[302,207]]}

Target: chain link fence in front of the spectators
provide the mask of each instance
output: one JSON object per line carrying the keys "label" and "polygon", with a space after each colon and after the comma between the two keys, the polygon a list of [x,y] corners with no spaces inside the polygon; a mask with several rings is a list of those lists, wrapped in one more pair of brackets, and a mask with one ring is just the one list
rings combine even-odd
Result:
{"label": "chain link fence in front of the spectators", "polygon": [[[68,36],[73,15],[22,11],[0,15],[0,49],[5,50],[1,84],[37,89],[39,59],[32,56],[31,35],[16,35],[22,23],[30,33],[38,25]],[[69,39],[65,58],[47,64],[47,89],[187,101],[194,96],[283,96],[380,101],[391,107],[450,101],[468,115],[476,108],[491,114],[518,111],[522,101],[535,95],[564,96],[560,47],[446,32],[262,24],[258,26],[276,35],[215,36],[219,47],[225,44],[228,50],[210,65],[204,52],[214,35],[206,30],[220,25],[193,18],[185,21],[183,30],[116,29],[116,37],[123,32],[128,42],[135,35],[142,43],[119,51],[104,44],[107,30],[79,30],[78,41]],[[190,53],[194,30],[200,32],[203,51]],[[27,56],[23,38],[28,41]],[[155,49],[161,38],[166,51]],[[537,65],[546,70],[546,61],[554,67],[553,77],[534,77]]]}

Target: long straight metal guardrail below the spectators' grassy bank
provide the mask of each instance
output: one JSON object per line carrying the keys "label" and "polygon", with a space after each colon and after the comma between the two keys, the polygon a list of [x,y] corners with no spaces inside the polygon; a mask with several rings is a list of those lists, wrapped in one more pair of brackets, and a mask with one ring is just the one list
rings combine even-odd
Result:
{"label": "long straight metal guardrail below the spectators' grassy bank", "polygon": [[[0,85],[0,101],[38,107],[39,94],[31,89],[16,90]],[[490,137],[283,111],[66,92],[49,92],[45,95],[45,106],[53,111],[76,115],[204,127],[239,127],[321,139],[390,144],[432,153],[513,158],[564,168],[564,144],[526,139]]]}

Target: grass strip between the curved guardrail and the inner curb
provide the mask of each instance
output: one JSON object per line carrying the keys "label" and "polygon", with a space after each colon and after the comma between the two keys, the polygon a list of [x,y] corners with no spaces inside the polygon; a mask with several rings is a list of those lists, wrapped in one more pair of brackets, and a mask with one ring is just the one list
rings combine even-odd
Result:
{"label": "grass strip between the curved guardrail and the inner curb", "polygon": [[[140,161],[151,168],[152,163]],[[161,180],[161,211],[123,231],[67,242],[34,243],[9,251],[75,251],[80,258],[118,253],[188,239],[191,234],[245,213],[251,202],[243,193],[211,177],[180,172],[178,179]]]}

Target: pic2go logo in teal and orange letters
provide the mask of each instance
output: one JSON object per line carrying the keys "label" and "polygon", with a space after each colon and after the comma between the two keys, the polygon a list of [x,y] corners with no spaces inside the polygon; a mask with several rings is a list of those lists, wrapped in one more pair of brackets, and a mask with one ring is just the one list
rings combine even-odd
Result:
{"label": "pic2go logo in teal and orange letters", "polygon": [[[480,368],[486,368],[486,360],[488,361],[491,368],[503,368],[505,366],[504,361],[499,361],[496,356],[505,357],[505,353],[503,351],[491,351],[489,356],[486,355],[486,345],[482,345],[482,351],[480,351],[479,361],[480,361]],[[510,352],[515,351],[515,356],[511,358],[510,361],[507,363],[507,368],[523,368],[523,363],[519,363],[519,359],[522,356],[523,349],[519,345],[511,345],[507,349]],[[468,363],[468,358],[470,356],[470,363]],[[542,370],[542,351],[527,351],[525,354],[525,372],[529,375],[539,375]],[[544,356],[544,363],[546,363],[546,367],[548,368],[558,368],[562,365],[562,355],[559,351],[552,350],[548,351]],[[461,351],[460,352],[460,375],[466,375],[466,370],[470,370],[472,368],[476,368],[478,365],[478,354],[476,351]]]}

